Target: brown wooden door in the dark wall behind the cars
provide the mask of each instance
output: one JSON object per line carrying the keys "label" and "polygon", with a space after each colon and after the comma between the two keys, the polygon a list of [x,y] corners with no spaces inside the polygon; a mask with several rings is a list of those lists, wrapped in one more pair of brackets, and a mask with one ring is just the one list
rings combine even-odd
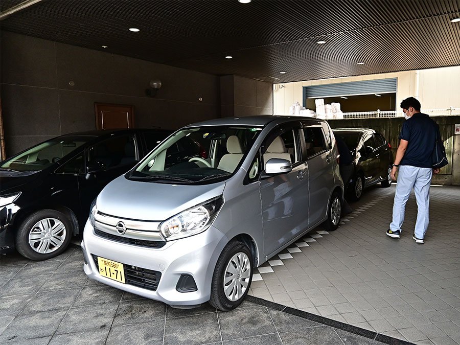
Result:
{"label": "brown wooden door in the dark wall behind the cars", "polygon": [[97,129],[134,127],[134,107],[132,105],[95,103],[95,107]]}

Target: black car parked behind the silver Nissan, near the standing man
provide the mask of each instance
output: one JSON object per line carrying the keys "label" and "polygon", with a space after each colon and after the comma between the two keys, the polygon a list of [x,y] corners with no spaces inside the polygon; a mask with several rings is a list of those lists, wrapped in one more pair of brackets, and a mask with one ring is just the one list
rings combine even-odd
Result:
{"label": "black car parked behind the silver Nissan, near the standing man", "polygon": [[336,128],[332,132],[347,144],[353,156],[354,172],[347,195],[359,200],[365,187],[380,182],[382,187],[392,184],[393,153],[384,136],[370,128]]}

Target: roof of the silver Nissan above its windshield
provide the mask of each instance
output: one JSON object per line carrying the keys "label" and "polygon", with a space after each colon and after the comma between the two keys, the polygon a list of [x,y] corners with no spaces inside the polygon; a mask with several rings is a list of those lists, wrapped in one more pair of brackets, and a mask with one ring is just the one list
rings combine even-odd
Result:
{"label": "roof of the silver Nissan above its windshield", "polygon": [[229,117],[213,119],[193,123],[186,127],[197,126],[266,126],[269,123],[279,124],[290,121],[309,121],[311,124],[325,122],[324,120],[301,117],[301,116],[284,116],[284,115],[260,115],[260,116],[245,116],[245,117]]}

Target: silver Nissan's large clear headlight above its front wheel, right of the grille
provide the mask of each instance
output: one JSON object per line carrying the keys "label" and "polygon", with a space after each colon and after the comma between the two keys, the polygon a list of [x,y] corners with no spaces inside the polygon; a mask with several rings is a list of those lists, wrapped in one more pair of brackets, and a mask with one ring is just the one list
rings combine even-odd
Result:
{"label": "silver Nissan's large clear headlight above its front wheel, right of the grille", "polygon": [[159,224],[159,231],[167,241],[202,233],[211,225],[222,204],[222,196],[203,202],[165,220]]}

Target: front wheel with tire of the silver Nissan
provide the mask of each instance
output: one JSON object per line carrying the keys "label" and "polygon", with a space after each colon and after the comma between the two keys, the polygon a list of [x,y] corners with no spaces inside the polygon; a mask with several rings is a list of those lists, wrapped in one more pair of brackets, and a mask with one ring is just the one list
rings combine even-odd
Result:
{"label": "front wheel with tire of the silver Nissan", "polygon": [[[214,269],[211,283],[211,298],[209,303],[216,309],[229,311],[238,307],[246,297],[252,281],[252,255],[249,248],[242,242],[230,241],[222,250]],[[233,279],[229,270],[236,270]],[[227,279],[224,281],[224,279]],[[226,283],[225,283],[226,282]],[[237,282],[237,292],[232,283]],[[225,286],[227,289],[225,289]]]}

